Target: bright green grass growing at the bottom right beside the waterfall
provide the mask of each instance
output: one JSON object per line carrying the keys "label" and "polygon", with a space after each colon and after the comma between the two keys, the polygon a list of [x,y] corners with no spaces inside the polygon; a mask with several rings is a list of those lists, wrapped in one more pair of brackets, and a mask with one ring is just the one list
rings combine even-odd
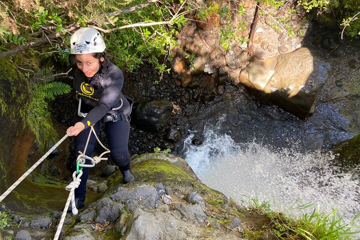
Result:
{"label": "bright green grass growing at the bottom right beside the waterfall", "polygon": [[[350,240],[355,234],[360,232],[360,227],[354,224],[360,216],[358,213],[349,223],[342,223],[342,217],[333,209],[330,213],[320,212],[319,207],[311,213],[303,213],[296,216],[288,216],[284,213],[273,211],[268,201],[259,200],[258,196],[248,197],[248,208],[259,214],[269,217],[270,224],[263,226],[264,229],[273,232],[277,239],[306,239],[306,240]],[[297,205],[300,200],[296,201],[288,208],[291,210],[307,210],[314,203],[309,202]],[[273,200],[274,205],[276,205]],[[246,231],[246,235],[251,234]],[[250,239],[256,239],[251,238]]]}

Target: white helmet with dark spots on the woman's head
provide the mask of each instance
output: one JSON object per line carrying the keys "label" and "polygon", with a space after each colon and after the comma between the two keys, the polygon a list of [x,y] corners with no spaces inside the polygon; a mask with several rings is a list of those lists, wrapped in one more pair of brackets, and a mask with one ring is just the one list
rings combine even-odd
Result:
{"label": "white helmet with dark spots on the woman's head", "polygon": [[103,52],[105,48],[106,45],[101,34],[92,27],[82,27],[71,35],[71,54]]}

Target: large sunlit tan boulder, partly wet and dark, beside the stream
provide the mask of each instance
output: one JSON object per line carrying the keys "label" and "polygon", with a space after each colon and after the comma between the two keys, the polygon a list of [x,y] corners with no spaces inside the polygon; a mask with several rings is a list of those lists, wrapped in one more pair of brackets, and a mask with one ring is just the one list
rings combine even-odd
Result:
{"label": "large sunlit tan boulder, partly wet and dark, beside the stream", "polygon": [[287,111],[306,117],[327,79],[327,63],[316,51],[300,47],[276,58],[252,58],[238,82],[263,92]]}

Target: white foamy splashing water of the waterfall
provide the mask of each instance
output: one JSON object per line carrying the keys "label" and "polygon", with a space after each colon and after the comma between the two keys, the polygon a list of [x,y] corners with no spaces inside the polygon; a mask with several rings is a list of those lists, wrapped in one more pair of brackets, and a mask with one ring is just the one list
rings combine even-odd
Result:
{"label": "white foamy splashing water of the waterfall", "polygon": [[260,202],[272,203],[273,210],[288,214],[299,213],[289,210],[298,201],[296,205],[315,204],[305,211],[317,205],[324,212],[338,208],[342,223],[360,212],[359,180],[331,166],[331,152],[299,153],[296,147],[274,151],[256,140],[236,143],[229,135],[216,133],[220,122],[205,127],[202,145],[191,144],[193,134],[184,142],[185,160],[209,187],[237,203],[256,195]]}

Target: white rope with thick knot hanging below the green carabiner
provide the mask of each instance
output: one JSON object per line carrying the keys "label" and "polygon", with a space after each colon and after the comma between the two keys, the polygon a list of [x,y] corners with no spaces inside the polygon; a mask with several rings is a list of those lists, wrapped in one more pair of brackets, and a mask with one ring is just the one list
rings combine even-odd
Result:
{"label": "white rope with thick knot hanging below the green carabiner", "polygon": [[71,181],[66,187],[65,189],[70,191],[68,197],[67,197],[67,200],[66,200],[66,203],[65,203],[65,206],[64,206],[64,209],[62,211],[62,214],[61,214],[61,218],[60,218],[60,221],[59,221],[59,224],[57,226],[57,229],[56,229],[56,233],[54,235],[54,238],[53,240],[57,240],[59,235],[60,235],[60,232],[61,232],[61,228],[62,228],[62,225],[63,225],[63,222],[65,220],[65,217],[66,217],[66,212],[67,212],[67,209],[68,209],[68,206],[70,204],[70,201],[71,201],[71,207],[72,207],[72,214],[76,215],[77,214],[77,208],[76,208],[76,204],[75,204],[75,193],[74,193],[74,190],[75,188],[78,187],[78,185],[80,184],[80,176],[82,175],[82,171],[79,170],[79,174],[76,176],[76,171],[74,171],[72,173],[72,179],[73,181]]}

